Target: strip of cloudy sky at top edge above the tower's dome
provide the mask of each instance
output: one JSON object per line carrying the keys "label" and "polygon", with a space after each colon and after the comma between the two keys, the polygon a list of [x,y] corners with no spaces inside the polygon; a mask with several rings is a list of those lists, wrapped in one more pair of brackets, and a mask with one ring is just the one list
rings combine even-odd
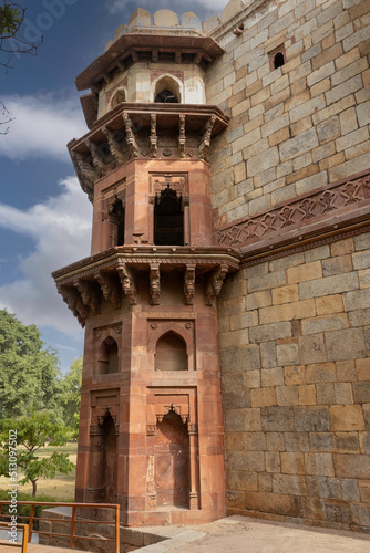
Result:
{"label": "strip of cloudy sky at top edge above the tower's dome", "polygon": [[[145,8],[148,10],[152,15],[154,12],[163,9],[168,9],[176,11],[178,13],[184,13],[187,11],[193,11],[196,15],[201,17],[204,12],[209,14],[216,14],[220,12],[225,6],[228,3],[228,0],[189,0],[186,2],[186,7],[184,7],[183,0],[140,0],[137,1],[137,7]],[[132,7],[133,2],[127,0],[114,0],[107,3],[107,8],[111,13],[120,13],[126,11],[129,6]]]}

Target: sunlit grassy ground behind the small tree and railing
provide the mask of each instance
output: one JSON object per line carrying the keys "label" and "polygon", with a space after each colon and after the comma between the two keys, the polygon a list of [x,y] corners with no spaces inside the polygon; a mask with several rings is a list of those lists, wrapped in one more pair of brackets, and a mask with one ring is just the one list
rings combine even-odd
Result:
{"label": "sunlit grassy ground behind the small tree and railing", "polygon": [[[50,457],[54,451],[60,453],[69,453],[69,459],[75,463],[76,461],[76,452],[78,445],[76,444],[68,444],[66,446],[59,448],[42,448],[38,451],[38,457]],[[22,478],[22,473],[18,474],[19,480]],[[63,501],[73,501],[74,500],[74,478],[75,472],[71,472],[70,474],[56,474],[56,477],[52,480],[40,478],[38,480],[38,494],[39,495],[48,495],[54,499],[56,502]],[[0,490],[9,489],[9,479],[1,477],[0,478]],[[19,487],[20,492],[32,494],[32,484],[28,483],[25,486]]]}

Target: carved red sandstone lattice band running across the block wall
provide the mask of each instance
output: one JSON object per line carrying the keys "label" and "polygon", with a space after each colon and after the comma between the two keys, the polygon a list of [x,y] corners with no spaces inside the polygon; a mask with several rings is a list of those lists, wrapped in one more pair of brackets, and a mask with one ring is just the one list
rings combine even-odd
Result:
{"label": "carved red sandstone lattice band running across the block wall", "polygon": [[370,169],[235,221],[218,230],[217,242],[238,249],[245,263],[369,223]]}

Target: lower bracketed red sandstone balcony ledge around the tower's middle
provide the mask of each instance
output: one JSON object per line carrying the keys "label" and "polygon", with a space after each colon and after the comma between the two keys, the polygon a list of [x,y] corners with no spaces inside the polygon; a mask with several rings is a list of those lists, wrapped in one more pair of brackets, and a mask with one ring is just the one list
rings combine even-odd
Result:
{"label": "lower bracketed red sandstone balcony ledge around the tower's middle", "polygon": [[102,300],[120,309],[123,302],[140,303],[143,276],[147,279],[150,304],[161,303],[162,273],[183,274],[184,304],[192,305],[196,279],[204,278],[204,301],[214,305],[228,272],[239,259],[225,248],[120,247],[82,260],[53,273],[59,293],[81,326],[100,313]]}

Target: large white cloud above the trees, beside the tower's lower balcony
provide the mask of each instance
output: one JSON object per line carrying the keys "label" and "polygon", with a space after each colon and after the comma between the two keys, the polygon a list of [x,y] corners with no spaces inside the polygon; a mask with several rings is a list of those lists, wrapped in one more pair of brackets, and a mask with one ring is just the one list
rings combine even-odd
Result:
{"label": "large white cloud above the trees, beside the tower's lower balcony", "polygon": [[92,207],[75,177],[60,182],[59,196],[25,211],[0,204],[0,227],[33,239],[20,258],[22,278],[0,288],[0,307],[23,324],[50,326],[75,335],[79,325],[56,292],[51,272],[90,254]]}

